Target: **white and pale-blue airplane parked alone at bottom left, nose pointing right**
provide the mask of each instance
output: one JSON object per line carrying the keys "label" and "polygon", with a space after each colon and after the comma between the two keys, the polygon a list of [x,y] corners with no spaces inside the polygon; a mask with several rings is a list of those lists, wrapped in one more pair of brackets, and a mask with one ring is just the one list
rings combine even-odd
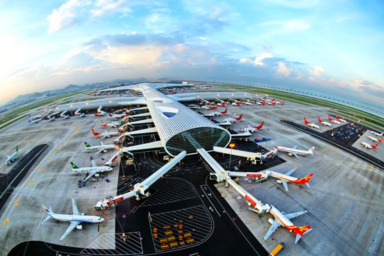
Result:
{"label": "white and pale-blue airplane parked alone at bottom left, nose pointing right", "polygon": [[72,199],[72,214],[57,214],[52,211],[52,208],[49,206],[47,209],[44,205],[41,206],[45,209],[45,212],[48,216],[42,221],[45,223],[50,218],[70,222],[68,228],[65,230],[64,234],[60,237],[60,240],[64,239],[73,229],[82,229],[82,225],[79,225],[81,222],[84,223],[99,223],[104,221],[102,217],[94,215],[85,215],[85,213],[80,213],[77,209],[76,202]]}

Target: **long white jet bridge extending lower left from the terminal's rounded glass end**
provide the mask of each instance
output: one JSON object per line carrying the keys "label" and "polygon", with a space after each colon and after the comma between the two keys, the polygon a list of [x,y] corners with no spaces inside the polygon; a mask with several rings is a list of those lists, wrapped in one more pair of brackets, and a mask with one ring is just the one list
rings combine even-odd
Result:
{"label": "long white jet bridge extending lower left from the terminal's rounded glass end", "polygon": [[103,200],[98,201],[94,207],[96,210],[109,209],[117,206],[117,202],[128,199],[130,197],[136,196],[136,200],[140,200],[140,197],[144,198],[149,196],[149,186],[153,184],[157,179],[162,177],[168,170],[170,170],[174,165],[176,165],[182,158],[186,155],[186,151],[181,151],[172,160],[167,162],[165,165],[160,167],[154,173],[152,173],[149,177],[144,179],[143,181],[136,183],[133,185],[133,190],[124,194],[120,194],[117,196],[108,196]]}

